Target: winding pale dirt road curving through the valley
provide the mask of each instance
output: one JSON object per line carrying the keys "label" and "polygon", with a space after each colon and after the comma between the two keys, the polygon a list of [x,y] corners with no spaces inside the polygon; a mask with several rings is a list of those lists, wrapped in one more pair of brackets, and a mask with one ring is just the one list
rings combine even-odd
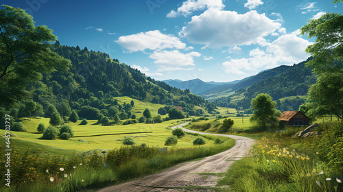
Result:
{"label": "winding pale dirt road curving through the valley", "polygon": [[[187,123],[182,123],[176,125],[175,128],[182,128],[182,125]],[[187,130],[182,128],[187,132],[196,132],[193,130]],[[199,134],[210,134],[202,133]],[[145,178],[139,180],[133,180],[130,182],[125,182],[122,184],[117,184],[111,187],[106,187],[104,189],[99,189],[97,191],[211,191],[211,189],[180,189],[177,187],[191,187],[191,186],[200,186],[200,187],[215,187],[217,184],[216,180],[219,179],[215,175],[204,175],[204,174],[195,174],[195,173],[224,173],[230,165],[234,163],[234,160],[239,160],[250,146],[255,142],[254,139],[249,139],[244,136],[235,136],[235,135],[223,135],[223,134],[213,134],[228,136],[236,140],[235,146],[230,149],[222,152],[220,154],[215,154],[206,158],[202,158],[198,161],[192,161],[187,163],[181,163],[161,173],[156,173],[154,175],[146,176]],[[175,188],[176,187],[176,188]]]}

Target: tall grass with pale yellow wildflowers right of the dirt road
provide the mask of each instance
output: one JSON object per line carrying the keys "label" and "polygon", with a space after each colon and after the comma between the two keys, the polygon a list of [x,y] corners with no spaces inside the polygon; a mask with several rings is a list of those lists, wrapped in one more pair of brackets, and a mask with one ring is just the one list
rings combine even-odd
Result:
{"label": "tall grass with pale yellow wildflowers right of the dirt road", "polygon": [[218,182],[230,190],[220,191],[343,191],[343,123],[322,123],[322,136],[306,139],[291,137],[297,129],[264,132]]}

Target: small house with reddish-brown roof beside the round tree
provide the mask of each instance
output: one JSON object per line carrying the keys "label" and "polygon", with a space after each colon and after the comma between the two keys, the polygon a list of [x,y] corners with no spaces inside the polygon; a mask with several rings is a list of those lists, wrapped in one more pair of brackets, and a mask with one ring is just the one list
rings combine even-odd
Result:
{"label": "small house with reddish-brown roof beside the round tree", "polygon": [[309,125],[309,117],[300,111],[285,111],[278,118],[285,125],[302,126]]}

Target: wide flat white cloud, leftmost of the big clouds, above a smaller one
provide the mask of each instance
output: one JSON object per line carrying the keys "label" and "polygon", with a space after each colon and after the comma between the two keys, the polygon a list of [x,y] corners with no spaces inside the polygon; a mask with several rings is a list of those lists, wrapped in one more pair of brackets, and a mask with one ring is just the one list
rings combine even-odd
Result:
{"label": "wide flat white cloud, leftmost of the big clouds, above a smaller one", "polygon": [[186,44],[182,43],[176,36],[162,34],[160,31],[141,32],[129,36],[121,36],[115,41],[121,47],[130,52],[150,50],[161,50],[166,48],[185,49]]}

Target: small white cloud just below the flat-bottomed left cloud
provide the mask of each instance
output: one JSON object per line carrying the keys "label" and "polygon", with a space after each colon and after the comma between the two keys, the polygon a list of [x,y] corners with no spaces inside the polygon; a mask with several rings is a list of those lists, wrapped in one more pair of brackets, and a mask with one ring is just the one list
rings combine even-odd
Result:
{"label": "small white cloud just below the flat-bottomed left cloud", "polygon": [[154,59],[158,65],[158,71],[176,71],[189,70],[189,66],[195,66],[193,57],[200,57],[201,54],[195,51],[190,53],[181,53],[178,50],[173,51],[154,51],[149,58]]}

